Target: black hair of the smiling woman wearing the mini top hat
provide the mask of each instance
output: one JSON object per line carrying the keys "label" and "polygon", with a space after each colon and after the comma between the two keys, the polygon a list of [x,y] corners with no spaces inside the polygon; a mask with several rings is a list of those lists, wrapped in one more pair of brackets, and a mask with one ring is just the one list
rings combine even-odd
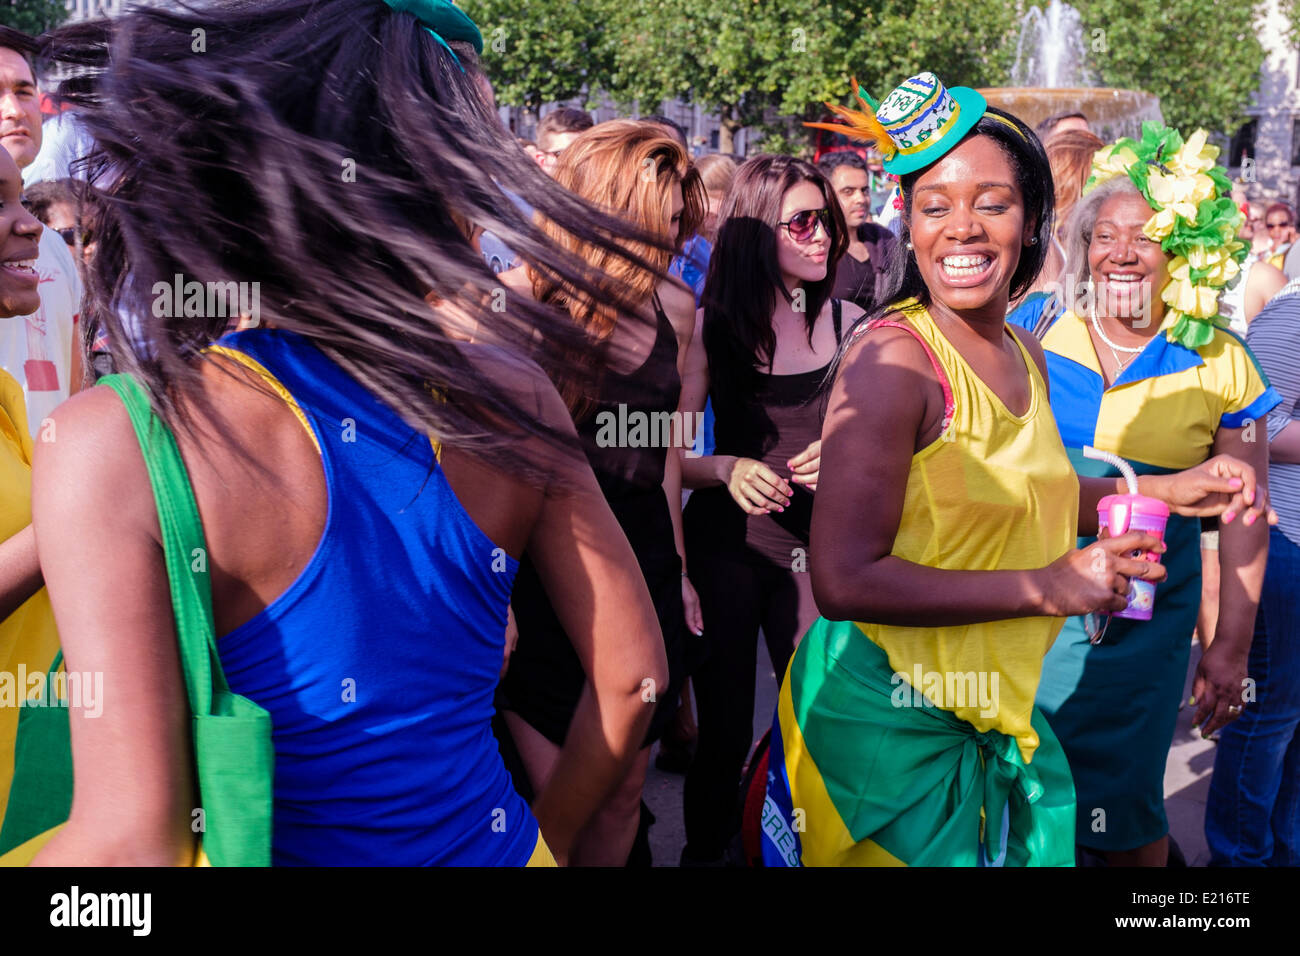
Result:
{"label": "black hair of the smiling woman wearing the mini top hat", "polygon": [[[1024,216],[1036,224],[1034,234],[1037,237],[1037,242],[1032,246],[1024,246],[1020,248],[1020,261],[1015,267],[1015,272],[1011,274],[1011,299],[1014,300],[1028,291],[1030,286],[1032,286],[1034,281],[1039,277],[1039,272],[1043,271],[1043,264],[1046,261],[1048,246],[1052,242],[1056,190],[1052,185],[1052,164],[1048,163],[1046,153],[1043,150],[1043,143],[1039,142],[1034,130],[1010,113],[1005,113],[1001,109],[989,107],[988,112],[1001,116],[1008,122],[1013,124],[1014,129],[1008,126],[1001,120],[993,120],[984,116],[978,124],[975,124],[971,131],[962,138],[962,142],[970,139],[971,137],[989,137],[998,144],[998,147],[1001,147],[1002,152],[1006,153],[1006,157],[1011,163],[1015,183],[1020,190],[1022,199],[1024,200]],[[930,289],[926,287],[926,284],[920,277],[920,271],[916,268],[916,255],[907,248],[907,241],[911,235],[909,226],[911,221],[913,189],[915,189],[916,181],[928,169],[930,166],[926,166],[914,173],[907,173],[906,176],[900,177],[898,185],[902,190],[904,212],[902,233],[898,237],[898,250],[893,256],[890,256],[889,269],[885,272],[884,280],[878,287],[876,307],[854,323],[854,330],[863,323],[880,319],[881,316],[893,312],[894,307],[904,299],[914,298],[920,302],[920,304],[927,307],[930,306]],[[841,356],[844,354],[844,349],[850,345],[850,334],[844,336],[844,345],[840,350]]]}

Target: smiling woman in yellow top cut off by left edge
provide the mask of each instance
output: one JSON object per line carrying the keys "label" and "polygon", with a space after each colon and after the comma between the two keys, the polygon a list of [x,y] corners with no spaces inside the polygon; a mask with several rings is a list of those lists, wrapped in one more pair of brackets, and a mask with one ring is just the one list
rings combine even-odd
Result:
{"label": "smiling woman in yellow top cut off by left edge", "polygon": [[[40,222],[22,204],[22,177],[0,150],[0,321],[40,307]],[[31,529],[31,433],[22,388],[0,369],[0,821],[9,801],[20,675],[44,674],[58,652],[49,598],[40,587]]]}

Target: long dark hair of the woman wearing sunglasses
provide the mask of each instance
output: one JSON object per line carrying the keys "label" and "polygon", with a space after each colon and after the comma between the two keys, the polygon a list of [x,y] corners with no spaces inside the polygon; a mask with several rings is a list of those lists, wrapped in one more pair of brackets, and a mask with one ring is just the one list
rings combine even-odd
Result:
{"label": "long dark hair of the woman wearing sunglasses", "polygon": [[849,228],[831,183],[811,163],[792,156],[760,155],[746,160],[736,170],[718,211],[718,242],[702,297],[708,377],[711,388],[716,385],[719,392],[746,389],[755,372],[772,365],[776,297],[794,300],[794,290],[781,281],[777,222],[785,194],[801,182],[816,186],[831,212],[826,278],[802,286],[809,345],[816,317],[831,298],[836,265],[849,247]]}

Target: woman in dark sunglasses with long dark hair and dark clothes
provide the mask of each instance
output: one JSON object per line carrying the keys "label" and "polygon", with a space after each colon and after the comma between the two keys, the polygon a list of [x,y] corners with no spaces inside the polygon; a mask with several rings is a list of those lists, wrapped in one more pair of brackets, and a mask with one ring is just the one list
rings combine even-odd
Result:
{"label": "woman in dark sunglasses with long dark hair and dark clothes", "polygon": [[686,775],[684,864],[722,858],[734,831],[736,780],[753,739],[763,631],[776,674],[816,619],[807,574],[818,481],[818,390],[845,323],[831,298],[848,228],[826,177],[788,156],[745,163],[719,211],[718,243],[688,354],[682,410],[706,395],[714,454],[686,458],[686,558],[703,613],[694,671],[699,743]]}

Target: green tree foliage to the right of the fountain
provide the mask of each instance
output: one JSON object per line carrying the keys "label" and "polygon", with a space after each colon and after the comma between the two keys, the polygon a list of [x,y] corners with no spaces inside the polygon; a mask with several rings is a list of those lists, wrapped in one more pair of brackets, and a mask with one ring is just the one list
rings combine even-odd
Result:
{"label": "green tree foliage to the right of the fountain", "polygon": [[1165,121],[1191,133],[1236,129],[1260,88],[1258,7],[1206,0],[1076,0],[1084,33],[1102,30],[1093,65],[1106,86],[1160,96]]}

